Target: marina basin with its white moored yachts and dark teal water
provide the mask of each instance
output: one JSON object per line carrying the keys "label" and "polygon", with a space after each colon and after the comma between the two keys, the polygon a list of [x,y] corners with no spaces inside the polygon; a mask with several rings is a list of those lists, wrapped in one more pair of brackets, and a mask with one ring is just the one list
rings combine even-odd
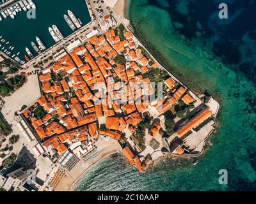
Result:
{"label": "marina basin with its white moored yachts and dark teal water", "polygon": [[[8,10],[0,10],[2,18],[0,21],[0,50],[1,52],[5,51],[4,54],[17,62],[23,63],[23,61],[26,61],[24,57],[24,55],[28,55],[26,47],[29,48],[31,54],[36,56],[56,43],[49,33],[49,27],[52,27],[53,32],[60,40],[76,30],[76,25],[68,17],[68,10],[81,19],[83,24],[90,22],[90,15],[84,0],[77,1],[77,4],[72,4],[70,1],[64,1],[63,3],[63,1],[56,0],[51,7],[45,1],[33,0],[31,2],[36,6],[36,18],[33,19],[27,18],[27,14],[24,12],[28,11],[28,8],[33,8],[29,1],[17,1],[11,5],[15,12],[15,8],[19,11],[19,13],[16,12],[16,15],[14,15],[10,10],[13,18],[8,13]],[[49,15],[45,15],[45,13],[49,13]],[[67,20],[63,18],[64,15],[67,15],[69,18],[68,22],[71,22],[70,25],[73,24],[73,29],[71,29]],[[78,19],[77,22],[79,22]],[[26,25],[26,29],[24,29],[24,25]],[[54,26],[55,29],[53,29],[53,25],[56,25],[56,27]],[[80,23],[79,25],[81,26]],[[20,31],[19,35],[17,35],[17,30]],[[36,52],[35,46],[32,46],[31,42],[35,43],[40,52]],[[10,46],[12,48],[9,49]]]}

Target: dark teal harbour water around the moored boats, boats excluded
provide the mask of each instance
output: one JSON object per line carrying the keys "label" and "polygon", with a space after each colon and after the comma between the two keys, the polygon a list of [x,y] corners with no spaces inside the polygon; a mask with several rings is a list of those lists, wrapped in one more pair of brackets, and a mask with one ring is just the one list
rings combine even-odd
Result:
{"label": "dark teal harbour water around the moored boats, boats excluded", "polygon": [[[77,18],[80,18],[83,25],[88,24],[91,18],[85,0],[33,0],[36,4],[36,18],[27,18],[27,13],[20,11],[15,19],[10,17],[0,21],[0,36],[10,43],[2,44],[2,47],[15,47],[12,54],[20,52],[20,59],[24,60],[26,54],[25,47],[28,47],[33,54],[35,50],[31,47],[31,41],[36,43],[35,36],[38,36],[47,48],[54,45],[54,40],[48,31],[48,27],[57,25],[63,36],[72,33],[70,27],[65,22],[63,15],[67,15],[67,10],[71,10]],[[37,43],[36,43],[37,44]],[[1,47],[1,48],[2,48]]]}

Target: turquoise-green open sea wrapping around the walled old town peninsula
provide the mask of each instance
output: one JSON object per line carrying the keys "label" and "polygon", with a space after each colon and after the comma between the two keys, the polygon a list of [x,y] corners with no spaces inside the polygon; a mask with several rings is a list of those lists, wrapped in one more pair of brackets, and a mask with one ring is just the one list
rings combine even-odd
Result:
{"label": "turquoise-green open sea wrapping around the walled old town peninsula", "polygon": [[[220,101],[221,109],[218,118],[220,130],[211,138],[213,145],[207,148],[204,157],[200,158],[196,166],[186,159],[176,161],[164,159],[142,174],[134,167],[128,166],[122,157],[110,156],[83,175],[77,183],[77,191],[243,191],[256,189],[256,91],[253,77],[250,77],[252,74],[255,75],[255,69],[244,65],[244,70],[241,70],[239,62],[230,63],[232,57],[236,58],[238,55],[227,55],[234,53],[233,46],[230,46],[232,41],[228,43],[228,40],[222,43],[227,50],[218,50],[218,54],[224,56],[220,60],[225,64],[219,61],[220,56],[216,57],[212,49],[217,48],[213,44],[220,36],[212,34],[214,32],[205,26],[205,22],[200,22],[200,19],[206,17],[196,18],[193,15],[197,12],[196,6],[200,9],[200,4],[193,5],[191,2],[198,3],[199,0],[131,0],[129,18],[136,35],[144,41],[166,68],[170,69],[193,91],[207,90]],[[200,12],[211,15],[211,19],[214,19],[212,12],[218,11],[217,3],[220,1],[205,2],[213,2],[216,7],[207,8],[202,4],[204,9],[201,8]],[[241,1],[227,1],[227,3],[233,3],[232,8],[236,8],[234,4],[236,2]],[[253,1],[250,2],[253,3]],[[244,10],[248,9],[246,6],[242,7]],[[222,32],[225,31],[225,26],[231,26],[232,20],[239,16],[237,11],[239,8],[241,5],[237,5],[236,10],[233,11],[236,15],[220,27]],[[242,23],[246,24],[246,22]],[[195,25],[197,29],[195,27],[192,29]],[[184,31],[179,30],[183,27]],[[237,22],[236,27],[240,27]],[[250,26],[241,25],[240,28],[249,30]],[[216,31],[218,33],[218,29]],[[201,33],[202,38],[195,38],[198,32]],[[232,35],[228,37],[232,38]],[[252,40],[252,38],[249,39]],[[236,45],[240,46],[239,48],[248,48],[246,44],[240,45],[239,39]],[[241,63],[246,60],[253,62],[250,59],[253,59],[253,56],[255,59],[255,55],[253,55],[253,50],[251,51],[241,53],[241,59],[243,59]],[[247,70],[250,70],[251,74],[248,75]],[[220,169],[228,171],[228,185],[218,183]]]}

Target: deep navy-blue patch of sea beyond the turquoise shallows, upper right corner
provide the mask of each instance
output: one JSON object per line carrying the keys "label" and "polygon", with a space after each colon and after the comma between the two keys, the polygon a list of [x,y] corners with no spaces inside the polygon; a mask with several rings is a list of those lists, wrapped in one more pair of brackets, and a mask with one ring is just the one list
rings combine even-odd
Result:
{"label": "deep navy-blue patch of sea beyond the turquoise shallows, upper right corner", "polygon": [[[228,6],[227,19],[218,18],[220,3]],[[205,49],[256,83],[256,1],[148,0],[147,5],[167,11],[180,34],[200,39]]]}

